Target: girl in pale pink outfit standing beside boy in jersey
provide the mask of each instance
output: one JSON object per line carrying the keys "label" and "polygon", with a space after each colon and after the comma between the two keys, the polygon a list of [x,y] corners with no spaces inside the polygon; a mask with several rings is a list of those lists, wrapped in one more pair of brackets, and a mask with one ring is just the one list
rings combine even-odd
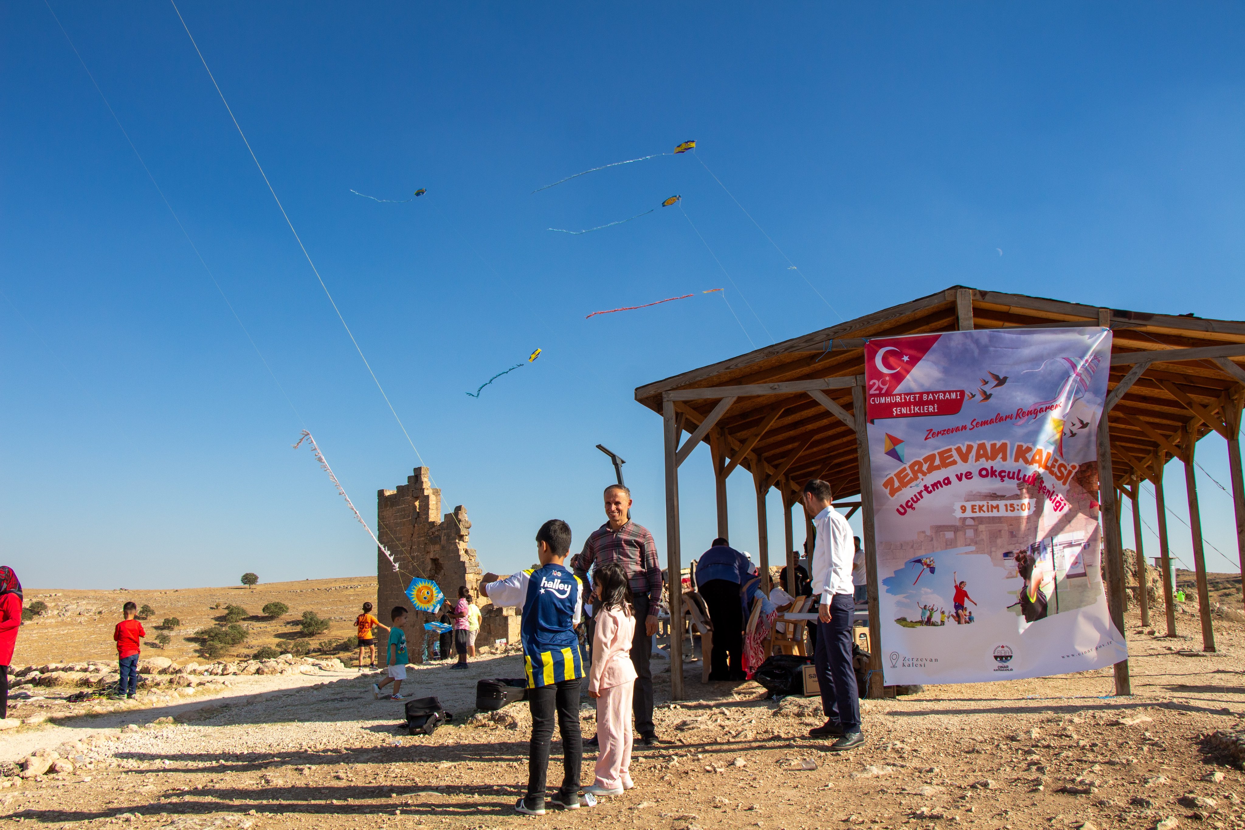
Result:
{"label": "girl in pale pink outfit standing beside boy in jersey", "polygon": [[622,795],[631,781],[631,696],[635,667],[631,641],[635,613],[626,572],[618,562],[598,565],[593,574],[596,633],[588,694],[596,698],[596,780],[585,786],[593,795]]}

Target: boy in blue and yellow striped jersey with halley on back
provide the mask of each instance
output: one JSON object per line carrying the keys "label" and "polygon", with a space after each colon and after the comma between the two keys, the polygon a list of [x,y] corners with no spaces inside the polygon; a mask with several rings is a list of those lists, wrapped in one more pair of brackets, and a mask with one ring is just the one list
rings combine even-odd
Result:
{"label": "boy in blue and yellow striped jersey with halley on back", "polygon": [[537,534],[540,567],[481,585],[494,605],[523,609],[520,636],[532,708],[532,740],[528,745],[528,793],[514,809],[524,815],[544,815],[545,811],[545,774],[555,711],[561,733],[563,779],[561,788],[548,804],[568,810],[579,808],[583,754],[579,687],[588,672],[575,635],[584,607],[584,585],[563,565],[569,551],[570,528],[561,519],[550,519]]}

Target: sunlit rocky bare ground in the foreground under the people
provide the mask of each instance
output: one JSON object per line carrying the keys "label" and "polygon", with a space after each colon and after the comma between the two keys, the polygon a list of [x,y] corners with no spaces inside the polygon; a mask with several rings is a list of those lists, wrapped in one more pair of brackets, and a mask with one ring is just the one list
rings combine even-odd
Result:
{"label": "sunlit rocky bare ground in the foreground under the people", "polygon": [[[435,693],[456,716],[432,737],[403,734],[401,704],[375,701],[374,678],[355,669],[225,676],[229,687],[200,683],[215,689],[204,699],[4,733],[0,816],[186,830],[1245,828],[1245,754],[1234,760],[1223,739],[1245,727],[1245,627],[1216,620],[1219,652],[1205,655],[1195,615],[1179,615],[1177,640],[1130,622],[1132,697],[1112,696],[1109,669],[928,687],[864,702],[867,743],[843,755],[806,737],[820,722],[814,699],[702,686],[692,663],[693,699],[672,704],[667,671],[657,728],[669,743],[637,753],[636,789],[543,819],[513,814],[527,780],[524,704],[472,717],[476,681],[520,674],[517,656],[468,672],[412,667],[406,691]],[[591,734],[586,698],[583,719]],[[11,763],[40,748],[72,772],[15,776]],[[559,775],[555,759],[550,780]]]}

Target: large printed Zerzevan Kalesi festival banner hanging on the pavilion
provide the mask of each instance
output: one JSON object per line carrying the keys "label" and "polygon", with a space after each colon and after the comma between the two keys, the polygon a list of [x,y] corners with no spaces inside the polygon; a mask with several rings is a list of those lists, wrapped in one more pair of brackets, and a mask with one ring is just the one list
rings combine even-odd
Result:
{"label": "large printed Zerzevan Kalesi festival banner hanging on the pavilion", "polygon": [[885,682],[1127,657],[1097,501],[1111,331],[881,337],[865,358]]}

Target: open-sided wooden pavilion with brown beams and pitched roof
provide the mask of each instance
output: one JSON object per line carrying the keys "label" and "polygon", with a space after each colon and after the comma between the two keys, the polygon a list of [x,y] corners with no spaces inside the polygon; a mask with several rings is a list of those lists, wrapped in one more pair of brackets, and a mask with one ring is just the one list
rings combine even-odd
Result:
{"label": "open-sided wooden pavilion with brown beams and pitched roof", "polygon": [[[1133,503],[1138,574],[1144,574],[1140,483],[1154,484],[1167,633],[1175,635],[1175,609],[1168,553],[1163,470],[1169,459],[1184,465],[1193,559],[1198,580],[1203,650],[1214,651],[1206,567],[1194,475],[1196,442],[1210,433],[1228,441],[1238,554],[1245,595],[1245,483],[1239,432],[1245,402],[1245,322],[1102,309],[952,286],[911,302],[883,309],[820,331],[693,368],[635,391],[635,399],[662,416],[666,459],[666,550],[670,574],[682,562],[679,539],[679,467],[701,443],[710,445],[717,483],[718,535],[728,535],[726,478],[742,467],[757,493],[758,551],[768,581],[769,540],[766,494],[777,488],[783,501],[787,566],[794,570],[791,510],[806,482],[828,480],[835,506],[862,508],[869,627],[873,646],[869,697],[881,697],[881,647],[878,617],[878,566],[869,448],[864,418],[864,343],[870,337],[966,331],[972,329],[1053,329],[1104,326],[1113,331],[1109,393],[1098,431],[1104,570],[1111,615],[1124,628],[1125,586],[1119,495]],[[682,433],[690,433],[682,441]],[[844,497],[859,495],[844,503]],[[810,524],[806,524],[810,536]],[[672,585],[677,581],[671,580]],[[1138,591],[1143,625],[1149,625],[1144,590]],[[671,591],[672,620],[682,617],[680,591]],[[682,664],[682,640],[671,640],[674,666]],[[671,692],[681,699],[682,673],[671,673]],[[1129,694],[1128,661],[1116,666],[1116,693]]]}

